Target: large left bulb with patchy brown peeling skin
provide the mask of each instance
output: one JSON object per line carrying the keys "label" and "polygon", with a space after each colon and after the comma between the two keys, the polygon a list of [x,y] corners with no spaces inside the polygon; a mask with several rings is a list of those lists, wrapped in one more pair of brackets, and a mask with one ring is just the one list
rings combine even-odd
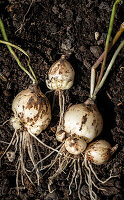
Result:
{"label": "large left bulb with patchy brown peeling skin", "polygon": [[46,129],[51,120],[49,101],[36,85],[31,85],[15,97],[12,110],[14,117],[34,135]]}

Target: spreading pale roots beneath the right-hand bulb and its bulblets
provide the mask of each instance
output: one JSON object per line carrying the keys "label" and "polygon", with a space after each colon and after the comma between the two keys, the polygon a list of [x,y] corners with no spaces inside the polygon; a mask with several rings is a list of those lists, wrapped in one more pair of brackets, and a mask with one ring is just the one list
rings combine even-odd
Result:
{"label": "spreading pale roots beneath the right-hand bulb and its bulblets", "polygon": [[[72,187],[72,184],[74,183],[75,189],[78,192],[78,198],[80,200],[82,199],[81,187],[82,187],[82,182],[83,182],[83,174],[85,177],[85,183],[88,185],[88,190],[89,190],[89,195],[90,195],[91,200],[97,200],[97,194],[95,192],[95,189],[105,191],[104,188],[102,188],[101,186],[98,186],[95,183],[95,180],[98,181],[98,183],[101,183],[102,185],[104,185],[111,178],[117,177],[117,176],[113,176],[111,172],[110,176],[107,179],[105,180],[99,179],[90,161],[88,161],[84,155],[82,155],[82,157],[83,159],[81,159],[80,156],[72,157],[71,154],[69,154],[65,150],[64,144],[61,146],[59,153],[57,153],[55,159],[51,162],[48,169],[50,170],[53,167],[53,165],[58,162],[58,168],[56,169],[55,173],[49,177],[48,190],[50,193],[54,191],[51,187],[53,184],[53,181],[56,179],[58,175],[64,172],[64,170],[67,168],[68,165],[71,168],[67,177],[67,179],[70,179],[69,177],[71,176],[71,180],[69,184],[69,195],[72,194],[71,187]],[[93,180],[93,176],[95,180]]]}

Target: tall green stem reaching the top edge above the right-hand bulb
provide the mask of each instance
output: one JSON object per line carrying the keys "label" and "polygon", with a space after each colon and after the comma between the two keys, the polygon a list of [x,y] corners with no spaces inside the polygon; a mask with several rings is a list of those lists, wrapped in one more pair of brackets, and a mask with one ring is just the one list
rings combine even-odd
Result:
{"label": "tall green stem reaching the top edge above the right-hand bulb", "polygon": [[116,6],[121,1],[123,1],[123,0],[116,0],[114,5],[113,5],[113,8],[112,8],[111,18],[110,18],[110,23],[109,23],[109,29],[108,29],[108,34],[107,34],[107,39],[106,39],[106,44],[105,44],[105,56],[104,56],[104,60],[103,60],[103,63],[102,63],[101,72],[100,72],[100,75],[99,75],[97,86],[99,85],[99,83],[102,79],[105,64],[106,64],[106,59],[107,59],[107,54],[108,54],[108,49],[109,49],[109,41],[110,41],[112,29],[113,29],[114,17],[115,17],[115,12],[116,12]]}

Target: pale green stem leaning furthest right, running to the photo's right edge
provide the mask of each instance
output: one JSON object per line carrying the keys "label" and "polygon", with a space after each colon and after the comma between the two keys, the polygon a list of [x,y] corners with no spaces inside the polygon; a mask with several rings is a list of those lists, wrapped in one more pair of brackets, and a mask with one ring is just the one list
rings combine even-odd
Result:
{"label": "pale green stem leaning furthest right, running to the photo's right edge", "polygon": [[96,99],[97,93],[98,93],[99,90],[102,88],[102,86],[103,86],[103,84],[104,84],[104,82],[105,82],[105,80],[106,80],[106,78],[107,78],[107,76],[108,76],[108,74],[109,74],[109,72],[110,72],[110,70],[111,70],[111,68],[112,68],[112,66],[113,66],[113,64],[114,64],[114,62],[115,62],[115,59],[116,59],[117,55],[119,54],[120,50],[121,50],[123,47],[124,47],[124,40],[121,42],[121,44],[119,45],[119,47],[118,47],[117,50],[115,51],[115,53],[114,53],[114,55],[113,55],[113,57],[112,57],[112,59],[111,59],[111,61],[110,61],[110,64],[109,64],[109,66],[107,67],[104,76],[102,77],[102,80],[100,81],[99,85],[95,88],[95,91],[94,91],[93,96],[92,96],[92,99],[93,99],[93,100]]}

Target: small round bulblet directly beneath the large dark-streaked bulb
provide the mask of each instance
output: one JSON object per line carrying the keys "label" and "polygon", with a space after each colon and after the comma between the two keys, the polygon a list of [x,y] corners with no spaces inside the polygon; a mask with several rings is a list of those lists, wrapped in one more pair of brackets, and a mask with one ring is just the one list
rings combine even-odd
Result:
{"label": "small round bulblet directly beneath the large dark-streaked bulb", "polygon": [[82,138],[68,137],[65,140],[66,150],[73,155],[79,155],[86,149],[87,143]]}

